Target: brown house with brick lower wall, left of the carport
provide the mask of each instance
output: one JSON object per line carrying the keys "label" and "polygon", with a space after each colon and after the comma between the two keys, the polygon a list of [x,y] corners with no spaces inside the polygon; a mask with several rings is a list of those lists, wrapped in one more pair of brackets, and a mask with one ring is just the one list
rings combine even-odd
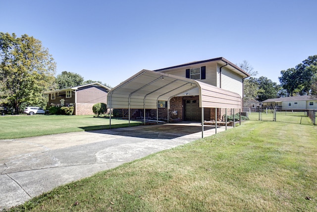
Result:
{"label": "brown house with brick lower wall, left of the carport", "polygon": [[107,92],[110,88],[95,82],[87,85],[76,86],[45,92],[49,95],[48,106],[74,106],[74,115],[91,115],[96,103],[107,102]]}

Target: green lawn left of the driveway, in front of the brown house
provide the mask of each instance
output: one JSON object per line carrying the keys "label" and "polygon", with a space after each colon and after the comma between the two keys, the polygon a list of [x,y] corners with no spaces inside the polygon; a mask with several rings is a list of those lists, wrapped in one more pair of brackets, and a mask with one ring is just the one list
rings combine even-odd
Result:
{"label": "green lawn left of the driveway, in front of the brown house", "polygon": [[[131,126],[141,122],[130,121]],[[0,116],[0,139],[109,128],[109,118],[93,115],[5,115]],[[128,126],[127,120],[111,118],[111,127]]]}

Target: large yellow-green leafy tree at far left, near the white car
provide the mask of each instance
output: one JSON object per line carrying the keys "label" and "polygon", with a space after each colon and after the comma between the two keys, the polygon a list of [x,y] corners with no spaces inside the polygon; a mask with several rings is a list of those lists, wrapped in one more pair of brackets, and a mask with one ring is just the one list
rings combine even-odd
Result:
{"label": "large yellow-green leafy tree at far left, near the white car", "polygon": [[0,32],[0,101],[15,108],[45,106],[44,91],[53,89],[56,64],[42,42]]}

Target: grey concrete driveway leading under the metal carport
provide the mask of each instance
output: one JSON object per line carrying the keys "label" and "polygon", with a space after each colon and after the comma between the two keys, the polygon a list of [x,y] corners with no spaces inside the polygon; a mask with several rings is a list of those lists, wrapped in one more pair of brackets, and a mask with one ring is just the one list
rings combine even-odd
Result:
{"label": "grey concrete driveway leading under the metal carport", "polygon": [[[214,132],[205,126],[204,137]],[[0,211],[201,136],[200,124],[182,122],[0,140]]]}

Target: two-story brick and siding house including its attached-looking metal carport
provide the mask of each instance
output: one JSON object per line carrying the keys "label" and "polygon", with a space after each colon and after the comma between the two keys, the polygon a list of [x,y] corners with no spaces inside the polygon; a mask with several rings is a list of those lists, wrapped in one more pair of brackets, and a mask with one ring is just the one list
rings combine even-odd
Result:
{"label": "two-story brick and siding house including its attached-looking metal carport", "polygon": [[[130,111],[131,118],[158,116],[159,119],[168,117],[179,121],[201,121],[203,112],[204,120],[219,120],[225,114],[225,108],[228,115],[232,114],[234,109],[236,109],[235,113],[242,109],[243,80],[250,76],[223,57],[154,70],[151,71],[153,76],[147,71],[140,71],[111,89],[108,104],[126,111],[129,111],[128,107],[133,109]],[[160,75],[154,76],[155,73]],[[164,80],[167,78],[169,78],[168,82]],[[149,83],[145,83],[148,80]],[[202,84],[199,85],[197,81]],[[187,89],[188,83],[193,89]],[[184,88],[184,92],[178,94],[175,91],[176,96],[170,94],[173,93],[171,92],[173,89],[181,90],[181,87]],[[206,91],[209,93],[205,95]],[[167,95],[172,98],[169,99]],[[157,106],[153,105],[154,96],[158,97]],[[128,100],[130,97],[131,101]],[[215,117],[216,113],[217,117]]]}

